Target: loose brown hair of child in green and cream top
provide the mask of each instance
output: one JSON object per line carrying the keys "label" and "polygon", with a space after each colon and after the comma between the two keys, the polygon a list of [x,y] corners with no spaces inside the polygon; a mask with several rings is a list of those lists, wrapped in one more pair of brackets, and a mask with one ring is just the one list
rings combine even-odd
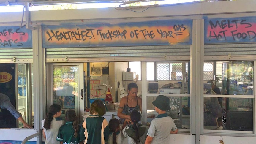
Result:
{"label": "loose brown hair of child in green and cream top", "polygon": [[100,116],[103,116],[106,114],[105,105],[100,99],[95,100],[91,104],[90,114],[92,115],[93,113],[98,113]]}

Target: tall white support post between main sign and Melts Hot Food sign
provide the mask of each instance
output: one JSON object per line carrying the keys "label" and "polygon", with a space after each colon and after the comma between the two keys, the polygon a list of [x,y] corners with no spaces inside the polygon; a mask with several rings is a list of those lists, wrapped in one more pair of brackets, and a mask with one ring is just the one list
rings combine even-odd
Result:
{"label": "tall white support post between main sign and Melts Hot Food sign", "polygon": [[195,143],[200,144],[200,135],[203,134],[203,46],[204,21],[193,20],[193,36],[190,57],[190,99],[192,102],[191,126],[192,134],[195,134]]}

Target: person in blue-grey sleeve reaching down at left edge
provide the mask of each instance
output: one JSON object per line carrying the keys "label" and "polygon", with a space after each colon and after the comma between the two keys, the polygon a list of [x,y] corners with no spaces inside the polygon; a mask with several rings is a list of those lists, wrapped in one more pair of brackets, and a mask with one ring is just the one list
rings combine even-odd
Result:
{"label": "person in blue-grey sleeve reaching down at left edge", "polygon": [[15,109],[7,95],[0,93],[0,127],[10,128],[10,116],[14,116],[22,122],[24,128],[31,126],[22,118],[21,114]]}

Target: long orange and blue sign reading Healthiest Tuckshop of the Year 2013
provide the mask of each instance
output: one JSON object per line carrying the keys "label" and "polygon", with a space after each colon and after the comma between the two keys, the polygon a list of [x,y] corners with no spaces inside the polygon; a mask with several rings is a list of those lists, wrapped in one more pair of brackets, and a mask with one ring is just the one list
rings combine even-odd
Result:
{"label": "long orange and blue sign reading Healthiest Tuckshop of the Year 2013", "polygon": [[46,48],[190,45],[192,20],[44,26],[43,34]]}

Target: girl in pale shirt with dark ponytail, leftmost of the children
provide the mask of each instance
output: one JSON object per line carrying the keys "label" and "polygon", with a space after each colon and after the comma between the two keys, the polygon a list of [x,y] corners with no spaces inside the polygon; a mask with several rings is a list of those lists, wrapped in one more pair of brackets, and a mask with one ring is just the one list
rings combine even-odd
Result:
{"label": "girl in pale shirt with dark ponytail, leftmost of the children", "polygon": [[45,144],[59,143],[56,140],[59,128],[65,124],[61,116],[61,106],[53,104],[49,107],[49,111],[42,120],[43,136],[45,138]]}

